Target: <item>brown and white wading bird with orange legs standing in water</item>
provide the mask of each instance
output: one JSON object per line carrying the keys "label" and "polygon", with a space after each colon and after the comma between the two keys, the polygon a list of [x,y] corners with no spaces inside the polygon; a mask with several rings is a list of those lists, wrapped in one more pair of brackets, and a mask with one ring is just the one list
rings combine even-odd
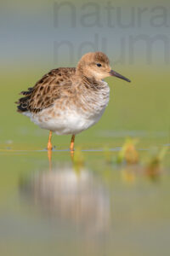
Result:
{"label": "brown and white wading bird with orange legs standing in water", "polygon": [[82,56],[77,67],[59,67],[40,79],[34,87],[22,91],[17,109],[42,129],[49,130],[48,150],[52,150],[52,132],[75,136],[99,121],[109,102],[110,88],[103,80],[114,76],[130,82],[111,69],[102,52]]}

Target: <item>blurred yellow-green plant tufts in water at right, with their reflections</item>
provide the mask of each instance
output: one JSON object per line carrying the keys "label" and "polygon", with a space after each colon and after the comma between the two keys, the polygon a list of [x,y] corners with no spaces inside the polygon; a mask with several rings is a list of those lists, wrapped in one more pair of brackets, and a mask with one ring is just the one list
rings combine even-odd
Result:
{"label": "blurred yellow-green plant tufts in water at right, with their reflections", "polygon": [[127,138],[117,156],[118,164],[126,164],[121,171],[122,180],[126,183],[134,183],[137,175],[157,180],[163,172],[163,160],[168,148],[152,148],[149,152],[147,151],[147,160],[144,162],[144,159],[139,161],[137,143],[137,139]]}

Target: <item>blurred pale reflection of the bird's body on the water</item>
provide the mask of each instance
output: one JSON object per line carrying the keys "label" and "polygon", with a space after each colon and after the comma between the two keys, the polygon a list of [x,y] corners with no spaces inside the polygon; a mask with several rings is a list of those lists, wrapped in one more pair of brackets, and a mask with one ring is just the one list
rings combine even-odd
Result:
{"label": "blurred pale reflection of the bird's body on the water", "polygon": [[34,173],[29,182],[22,181],[20,191],[61,223],[78,224],[88,234],[109,228],[109,191],[87,169],[76,172],[73,163]]}

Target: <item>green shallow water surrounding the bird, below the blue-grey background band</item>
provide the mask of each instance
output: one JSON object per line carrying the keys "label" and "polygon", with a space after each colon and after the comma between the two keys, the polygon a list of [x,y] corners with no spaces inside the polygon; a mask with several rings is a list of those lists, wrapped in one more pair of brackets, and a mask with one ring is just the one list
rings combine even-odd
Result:
{"label": "green shallow water surrounding the bird, below the blue-grey background band", "polygon": [[[108,79],[109,106],[98,124],[76,137],[74,163],[71,137],[54,136],[51,165],[48,131],[14,106],[18,92],[36,82],[42,70],[32,76],[30,69],[22,76],[4,74],[0,255],[169,254],[169,69],[127,69],[122,73],[129,73],[133,83],[118,80],[113,86]],[[129,136],[139,139],[139,165],[118,166],[117,154]],[[150,174],[147,162],[155,147],[168,150],[159,172]]]}

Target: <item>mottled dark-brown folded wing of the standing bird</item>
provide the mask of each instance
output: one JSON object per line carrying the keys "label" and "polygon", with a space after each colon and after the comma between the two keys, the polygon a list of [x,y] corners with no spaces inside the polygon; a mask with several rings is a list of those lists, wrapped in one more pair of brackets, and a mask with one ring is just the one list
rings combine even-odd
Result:
{"label": "mottled dark-brown folded wing of the standing bird", "polygon": [[[75,67],[59,67],[51,70],[44,75],[34,87],[21,91],[24,95],[18,102],[18,112],[30,111],[31,113],[40,112],[44,108],[48,108],[59,99],[61,87],[68,84],[71,75],[76,72]],[[68,85],[67,85],[68,86]]]}

